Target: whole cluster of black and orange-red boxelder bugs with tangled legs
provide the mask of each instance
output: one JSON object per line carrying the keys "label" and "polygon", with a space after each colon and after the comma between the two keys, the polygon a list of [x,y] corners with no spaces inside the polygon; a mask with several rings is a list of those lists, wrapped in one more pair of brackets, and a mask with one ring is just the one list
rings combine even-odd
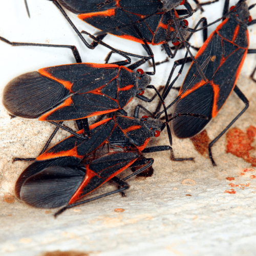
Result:
{"label": "whole cluster of black and orange-red boxelder bugs with tangled legs", "polygon": [[[104,64],[94,63],[94,59],[82,62],[77,48],[72,45],[11,42],[0,36],[3,43],[11,46],[70,49],[76,60],[73,64],[42,68],[20,75],[4,89],[3,104],[12,116],[47,121],[56,126],[37,158],[14,159],[32,161],[16,182],[15,193],[19,199],[38,208],[61,207],[56,217],[67,208],[118,192],[124,195],[123,191],[129,188],[126,180],[154,162],[153,158],[145,158],[144,154],[169,151],[170,160],[193,160],[175,158],[171,131],[178,138],[197,135],[216,117],[234,91],[245,107],[209,143],[209,158],[216,165],[211,154],[212,145],[249,105],[236,82],[246,55],[256,53],[256,49],[249,49],[247,29],[256,23],[256,19],[249,14],[256,4],[248,7],[245,0],[240,0],[236,6],[229,7],[229,0],[225,0],[223,15],[219,19],[207,24],[207,19],[201,18],[195,28],[189,28],[188,17],[196,16],[197,12],[204,11],[205,5],[214,5],[217,1],[202,4],[194,0],[195,9],[188,0],[51,2],[61,11],[88,51],[97,51],[97,46],[101,45],[110,53]],[[99,32],[94,35],[87,31],[80,32],[65,10],[76,14]],[[220,25],[208,37],[207,28],[217,22]],[[200,30],[203,31],[204,44],[197,49],[189,44],[189,40]],[[124,52],[114,48],[104,42],[106,35],[134,41],[138,47],[142,46],[146,54],[138,55],[132,49]],[[151,45],[161,46],[169,63],[181,49],[186,52],[184,58],[174,62],[172,72],[160,92],[151,84],[152,76],[157,76],[156,70],[161,69],[161,63],[155,61]],[[191,48],[198,50],[196,56],[191,53]],[[120,60],[109,63],[114,53]],[[132,61],[135,58],[137,61]],[[165,99],[170,97],[170,91],[188,62],[192,63],[178,97],[166,106]],[[150,63],[153,71],[142,70],[140,66],[145,63]],[[181,66],[178,75],[173,78],[178,66]],[[154,96],[146,97],[146,90],[153,90]],[[129,107],[135,97],[145,103],[136,105],[134,115],[130,117],[123,108]],[[153,100],[159,101],[154,113],[147,110]],[[172,113],[169,112],[171,106]],[[144,115],[140,115],[140,112]],[[76,122],[77,131],[62,124],[68,120]],[[158,137],[165,127],[169,145],[147,146],[150,139]],[[70,136],[48,148],[58,129],[66,130]],[[119,179],[117,175],[129,167],[136,168],[136,171]],[[117,184],[117,189],[84,199],[109,180]]]}

